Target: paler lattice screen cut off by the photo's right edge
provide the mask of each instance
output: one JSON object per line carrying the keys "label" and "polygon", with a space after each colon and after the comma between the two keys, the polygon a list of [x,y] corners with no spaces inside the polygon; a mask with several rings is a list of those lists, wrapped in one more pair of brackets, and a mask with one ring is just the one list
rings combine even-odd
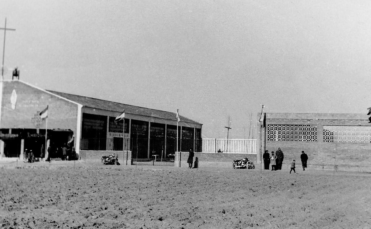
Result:
{"label": "paler lattice screen cut off by the photo's right edge", "polygon": [[368,143],[371,126],[324,126],[324,142]]}

